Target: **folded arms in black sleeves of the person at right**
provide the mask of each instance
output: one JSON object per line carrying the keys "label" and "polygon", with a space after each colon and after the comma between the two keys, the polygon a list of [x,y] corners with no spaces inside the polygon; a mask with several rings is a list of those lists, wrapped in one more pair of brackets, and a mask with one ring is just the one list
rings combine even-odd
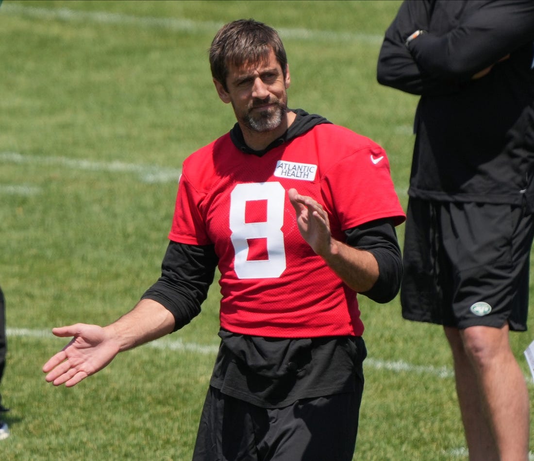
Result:
{"label": "folded arms in black sleeves of the person at right", "polygon": [[[406,43],[416,30],[425,33]],[[446,95],[532,40],[532,0],[405,0],[386,31],[376,77],[415,95]]]}

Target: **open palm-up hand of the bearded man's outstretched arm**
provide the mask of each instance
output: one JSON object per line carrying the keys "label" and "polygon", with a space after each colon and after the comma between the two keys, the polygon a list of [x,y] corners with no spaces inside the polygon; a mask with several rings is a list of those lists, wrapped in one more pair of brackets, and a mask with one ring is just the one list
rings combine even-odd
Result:
{"label": "open palm-up hand of the bearded man's outstretched arm", "polygon": [[119,353],[116,341],[98,325],[78,323],[52,329],[60,338],[73,339],[43,366],[46,381],[72,387],[108,365]]}

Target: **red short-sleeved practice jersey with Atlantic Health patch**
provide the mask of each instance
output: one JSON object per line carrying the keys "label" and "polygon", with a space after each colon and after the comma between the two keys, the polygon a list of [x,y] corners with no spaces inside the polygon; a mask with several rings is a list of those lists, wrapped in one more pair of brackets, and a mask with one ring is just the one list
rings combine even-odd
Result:
{"label": "red short-sleeved practice jersey with Atlantic Health patch", "polygon": [[317,200],[334,238],[385,217],[404,220],[383,149],[319,124],[262,157],[229,134],[187,158],[169,238],[215,245],[221,326],[234,333],[310,338],[363,333],[356,293],[302,238],[287,191]]}

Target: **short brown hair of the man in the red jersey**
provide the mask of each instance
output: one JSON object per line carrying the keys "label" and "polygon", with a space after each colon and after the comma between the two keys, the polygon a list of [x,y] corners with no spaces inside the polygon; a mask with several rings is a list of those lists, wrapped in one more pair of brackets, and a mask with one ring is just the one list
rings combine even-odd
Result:
{"label": "short brown hair of the man in the red jersey", "polygon": [[286,76],[287,56],[284,45],[276,30],[254,19],[238,19],[223,26],[209,49],[211,75],[226,87],[226,77],[230,65],[239,67],[247,62],[262,62],[270,51]]}

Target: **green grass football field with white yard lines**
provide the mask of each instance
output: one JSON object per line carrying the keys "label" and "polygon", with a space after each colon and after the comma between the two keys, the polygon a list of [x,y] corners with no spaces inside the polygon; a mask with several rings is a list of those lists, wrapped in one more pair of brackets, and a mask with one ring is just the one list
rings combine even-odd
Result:
{"label": "green grass football field with white yard lines", "polygon": [[[191,325],[71,389],[41,372],[67,342],[50,330],[112,322],[159,276],[182,161],[234,123],[207,59],[224,22],[253,17],[279,30],[289,106],[382,144],[405,206],[417,98],[375,80],[399,4],[2,3],[0,284],[9,354],[0,390],[12,411],[0,459],[190,459],[218,345],[217,284]],[[441,329],[403,321],[398,300],[360,304],[369,356],[354,459],[467,459]],[[532,339],[513,335],[529,383],[523,350]]]}

